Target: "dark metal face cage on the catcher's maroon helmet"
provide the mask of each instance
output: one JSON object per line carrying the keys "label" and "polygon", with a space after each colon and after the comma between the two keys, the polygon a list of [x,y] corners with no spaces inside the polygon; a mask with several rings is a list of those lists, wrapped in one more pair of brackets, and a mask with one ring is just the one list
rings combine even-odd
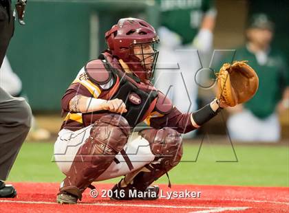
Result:
{"label": "dark metal face cage on the catcher's maroon helmet", "polygon": [[[148,80],[153,80],[153,73],[156,69],[156,63],[158,60],[158,53],[159,53],[158,49],[155,48],[157,43],[158,43],[158,41],[154,41],[154,42],[147,42],[147,43],[132,44],[130,46],[130,49],[131,49],[130,52],[131,53],[129,55],[134,56],[135,58],[138,58],[138,60],[140,61],[139,63],[142,65]],[[145,53],[144,49],[148,45],[151,46],[151,49],[153,49],[153,52]],[[140,48],[139,54],[134,53],[134,47]],[[138,57],[138,56],[140,56],[140,57]],[[140,58],[142,58],[142,60],[140,60]],[[147,58],[153,58],[152,62],[151,63],[145,63],[145,60],[147,60]],[[151,65],[150,69],[147,69],[146,65],[148,65],[148,64]]]}

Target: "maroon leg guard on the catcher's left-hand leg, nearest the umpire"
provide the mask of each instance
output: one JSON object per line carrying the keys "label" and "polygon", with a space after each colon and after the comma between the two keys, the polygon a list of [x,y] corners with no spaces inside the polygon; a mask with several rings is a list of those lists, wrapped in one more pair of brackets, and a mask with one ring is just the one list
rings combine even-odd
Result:
{"label": "maroon leg guard on the catcher's left-hand leg, nearest the umpire", "polygon": [[82,192],[109,167],[125,146],[129,133],[129,124],[121,115],[105,115],[95,122],[61,183],[60,194],[68,193],[81,199]]}

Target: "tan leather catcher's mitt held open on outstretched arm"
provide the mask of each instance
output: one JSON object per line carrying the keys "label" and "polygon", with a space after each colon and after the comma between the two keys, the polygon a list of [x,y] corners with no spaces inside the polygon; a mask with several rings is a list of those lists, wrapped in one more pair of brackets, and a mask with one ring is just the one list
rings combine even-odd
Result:
{"label": "tan leather catcher's mitt held open on outstretched arm", "polygon": [[217,99],[227,106],[235,106],[252,98],[259,85],[259,78],[246,61],[225,63],[217,74]]}

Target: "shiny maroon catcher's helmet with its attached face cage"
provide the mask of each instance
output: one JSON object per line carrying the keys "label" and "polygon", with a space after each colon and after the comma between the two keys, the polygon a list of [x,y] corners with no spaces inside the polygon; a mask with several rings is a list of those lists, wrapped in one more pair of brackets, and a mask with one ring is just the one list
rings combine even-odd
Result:
{"label": "shiny maroon catcher's helmet with its attached face cage", "polygon": [[[136,74],[141,80],[151,80],[153,71],[156,67],[158,59],[158,50],[153,48],[153,53],[146,54],[142,51],[140,60],[134,54],[133,47],[142,45],[153,45],[159,42],[156,30],[146,21],[135,18],[120,19],[118,23],[111,27],[111,30],[105,33],[107,46],[114,56],[122,59],[131,71]],[[146,69],[144,59],[153,56],[151,69]]]}

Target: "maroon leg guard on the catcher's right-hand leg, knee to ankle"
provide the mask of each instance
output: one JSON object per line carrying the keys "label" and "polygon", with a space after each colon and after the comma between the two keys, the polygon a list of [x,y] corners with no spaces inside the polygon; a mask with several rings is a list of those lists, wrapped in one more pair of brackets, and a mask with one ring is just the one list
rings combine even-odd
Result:
{"label": "maroon leg guard on the catcher's right-hand leg, knee to ankle", "polygon": [[182,137],[172,128],[146,129],[139,134],[149,141],[151,152],[156,158],[144,168],[129,173],[114,186],[113,191],[125,190],[126,196],[122,199],[131,199],[127,197],[128,190],[148,190],[153,181],[166,174],[182,158]]}

